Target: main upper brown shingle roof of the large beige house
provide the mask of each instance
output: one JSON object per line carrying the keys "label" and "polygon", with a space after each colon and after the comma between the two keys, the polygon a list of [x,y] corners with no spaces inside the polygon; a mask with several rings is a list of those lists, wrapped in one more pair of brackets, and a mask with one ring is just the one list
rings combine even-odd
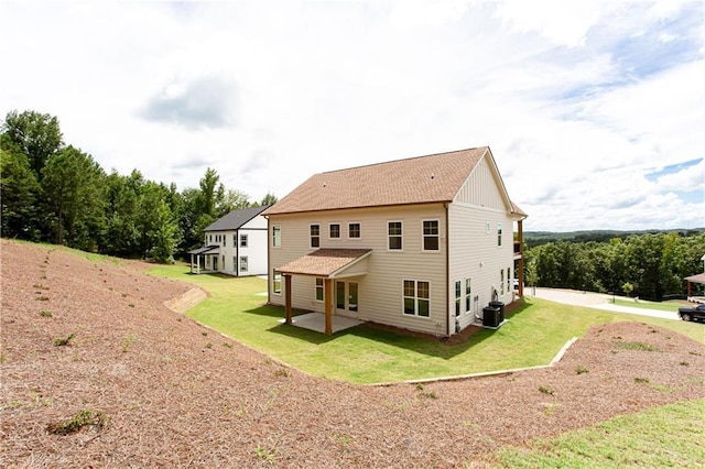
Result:
{"label": "main upper brown shingle roof of the large beige house", "polygon": [[481,146],[318,173],[263,215],[451,201],[486,153]]}

